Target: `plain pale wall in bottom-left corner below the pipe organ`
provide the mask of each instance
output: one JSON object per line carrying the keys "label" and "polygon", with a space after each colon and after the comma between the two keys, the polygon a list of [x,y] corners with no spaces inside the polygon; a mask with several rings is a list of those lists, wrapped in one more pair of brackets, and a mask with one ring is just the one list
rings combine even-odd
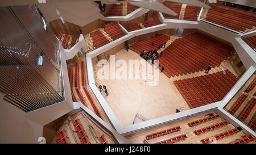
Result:
{"label": "plain pale wall in bottom-left corner below the pipe organ", "polygon": [[37,143],[43,127],[25,118],[25,112],[0,100],[0,143]]}

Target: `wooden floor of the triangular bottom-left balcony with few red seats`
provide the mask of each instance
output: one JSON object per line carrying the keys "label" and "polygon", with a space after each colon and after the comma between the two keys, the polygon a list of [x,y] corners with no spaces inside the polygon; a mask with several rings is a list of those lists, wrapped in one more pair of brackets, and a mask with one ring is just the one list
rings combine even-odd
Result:
{"label": "wooden floor of the triangular bottom-left balcony with few red seats", "polygon": [[[90,118],[89,115],[85,114],[84,111],[79,111],[73,115],[68,116],[68,118],[64,121],[63,125],[61,125],[59,129],[59,132],[62,129],[66,131],[70,144],[80,144],[76,132],[73,132],[73,125],[71,122],[69,122],[69,120],[76,120],[77,118],[80,120],[82,127],[84,128],[85,133],[88,136],[88,140],[91,144],[99,143],[97,138],[101,135],[104,135],[106,141],[108,141],[109,144],[117,143],[106,129],[101,127],[100,124]],[[53,138],[52,143],[57,143],[56,136]]]}

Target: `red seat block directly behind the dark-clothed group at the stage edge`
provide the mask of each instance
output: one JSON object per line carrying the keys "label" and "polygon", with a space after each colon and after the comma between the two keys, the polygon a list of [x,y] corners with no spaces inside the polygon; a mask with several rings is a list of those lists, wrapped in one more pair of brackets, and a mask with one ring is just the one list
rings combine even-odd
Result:
{"label": "red seat block directly behind the dark-clothed group at the stage edge", "polygon": [[[158,46],[166,43],[170,39],[170,36],[160,34],[152,36],[148,39],[137,41],[131,45],[130,49],[134,52],[141,54],[142,51],[158,50]],[[154,45],[152,45],[154,43]]]}

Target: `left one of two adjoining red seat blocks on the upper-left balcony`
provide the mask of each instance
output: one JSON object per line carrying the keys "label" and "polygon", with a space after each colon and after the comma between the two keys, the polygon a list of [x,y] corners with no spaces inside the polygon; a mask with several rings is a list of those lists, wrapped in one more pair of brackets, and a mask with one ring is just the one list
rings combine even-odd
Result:
{"label": "left one of two adjoining red seat blocks on the upper-left balcony", "polygon": [[109,40],[105,37],[105,35],[100,31],[94,31],[90,33],[90,37],[92,37],[93,47],[99,48],[105,44],[109,43]]}

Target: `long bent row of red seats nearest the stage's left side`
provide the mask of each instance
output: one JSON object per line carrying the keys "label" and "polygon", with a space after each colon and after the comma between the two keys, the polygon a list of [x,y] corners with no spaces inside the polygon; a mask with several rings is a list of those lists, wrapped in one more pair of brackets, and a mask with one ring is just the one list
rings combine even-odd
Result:
{"label": "long bent row of red seats nearest the stage's left side", "polygon": [[85,68],[84,68],[84,61],[81,61],[81,82],[82,82],[82,89],[84,90],[84,93],[86,94],[86,97],[88,98],[90,104],[93,107],[93,110],[95,111],[95,114],[102,119],[102,116],[100,114],[100,111],[98,111],[98,108],[96,107],[96,104],[94,103],[94,100],[92,99],[92,96],[90,95],[89,91],[86,89],[85,85]]}

